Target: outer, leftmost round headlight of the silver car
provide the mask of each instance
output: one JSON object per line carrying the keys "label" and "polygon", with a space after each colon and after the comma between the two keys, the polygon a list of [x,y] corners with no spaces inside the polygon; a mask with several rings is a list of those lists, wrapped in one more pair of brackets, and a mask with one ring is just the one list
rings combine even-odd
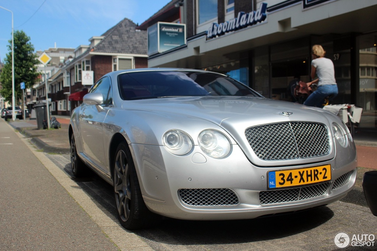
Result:
{"label": "outer, leftmost round headlight of the silver car", "polygon": [[164,147],[175,155],[185,155],[191,151],[192,140],[181,130],[169,130],[164,134]]}

